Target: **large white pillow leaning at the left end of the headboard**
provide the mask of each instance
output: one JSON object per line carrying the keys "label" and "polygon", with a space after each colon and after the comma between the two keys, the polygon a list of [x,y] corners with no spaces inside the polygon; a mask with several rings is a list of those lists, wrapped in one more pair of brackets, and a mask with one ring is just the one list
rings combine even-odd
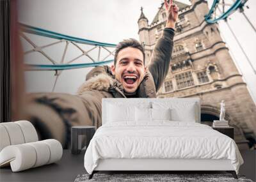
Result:
{"label": "large white pillow leaning at the left end of the headboard", "polygon": [[135,121],[135,107],[109,104],[107,121],[108,122]]}

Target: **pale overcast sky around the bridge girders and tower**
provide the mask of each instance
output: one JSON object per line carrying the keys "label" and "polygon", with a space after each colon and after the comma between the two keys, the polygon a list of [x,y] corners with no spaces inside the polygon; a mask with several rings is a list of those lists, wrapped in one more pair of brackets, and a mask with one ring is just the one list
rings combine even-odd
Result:
{"label": "pale overcast sky around the bridge girders and tower", "polygon": [[[125,38],[136,38],[139,40],[137,22],[140,17],[140,7],[143,6],[146,17],[149,22],[152,22],[161,2],[161,0],[19,0],[19,21],[30,26],[41,27],[78,38],[106,43],[118,43]],[[183,0],[183,2],[189,3],[188,0]],[[211,6],[212,1],[208,2],[209,6]],[[246,4],[250,8],[246,8],[245,13],[253,25],[256,26],[256,18],[254,18],[256,1],[249,0]],[[241,13],[233,13],[230,18],[228,20],[230,26],[236,33],[237,38],[256,69],[256,33]],[[241,73],[243,73],[244,80],[250,87],[250,92],[255,99],[256,75],[253,73],[248,61],[246,61],[243,52],[239,49],[227,24],[221,21],[219,25],[224,41],[230,47],[230,54],[234,58],[239,70],[241,70]],[[40,42],[41,44],[38,43],[39,45],[46,43],[41,38],[34,38],[34,40]],[[28,50],[28,47],[26,48],[26,45],[24,45],[24,49]],[[54,54],[51,56],[60,62],[63,49],[64,44],[45,51],[52,52],[54,50]],[[77,50],[70,49],[68,51],[70,55],[67,55],[67,60],[68,57],[71,59],[79,55]],[[59,52],[59,54],[56,52]],[[30,57],[26,56],[25,61],[27,63],[44,62],[42,64],[50,64],[39,54],[30,55]],[[78,60],[76,63],[81,63],[79,61],[83,60]],[[88,70],[90,68],[62,72],[56,84],[55,91],[76,93],[77,88],[84,81]],[[26,72],[25,76],[28,92],[49,92],[54,84],[54,72]]]}

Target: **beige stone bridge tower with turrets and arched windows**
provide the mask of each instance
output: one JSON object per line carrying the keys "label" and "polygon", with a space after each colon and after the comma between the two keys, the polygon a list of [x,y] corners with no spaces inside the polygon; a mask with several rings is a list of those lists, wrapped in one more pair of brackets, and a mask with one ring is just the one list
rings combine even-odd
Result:
{"label": "beige stone bridge tower with turrets and arched windows", "polygon": [[[219,119],[220,102],[225,100],[225,119],[235,127],[239,148],[252,147],[256,135],[256,106],[220,36],[218,24],[208,24],[204,20],[209,11],[207,1],[174,2],[180,11],[172,62],[157,97],[200,98],[202,123],[207,125]],[[165,23],[163,3],[151,24],[141,8],[138,33],[140,42],[145,45],[146,65],[150,63],[152,50]]]}

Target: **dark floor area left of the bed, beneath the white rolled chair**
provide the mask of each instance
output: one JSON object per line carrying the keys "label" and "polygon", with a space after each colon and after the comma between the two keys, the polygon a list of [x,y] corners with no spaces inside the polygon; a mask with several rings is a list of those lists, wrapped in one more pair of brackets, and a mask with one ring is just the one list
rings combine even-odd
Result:
{"label": "dark floor area left of the bed, beneath the white rolled chair", "polygon": [[10,167],[0,169],[0,181],[74,181],[78,174],[86,173],[84,153],[72,155],[70,150],[63,150],[63,156],[57,163],[12,172]]}

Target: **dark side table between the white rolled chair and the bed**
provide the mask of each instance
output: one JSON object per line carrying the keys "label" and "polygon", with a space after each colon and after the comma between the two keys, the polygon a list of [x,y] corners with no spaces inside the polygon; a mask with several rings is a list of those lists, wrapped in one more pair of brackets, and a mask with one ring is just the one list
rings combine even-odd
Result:
{"label": "dark side table between the white rolled chair and the bed", "polygon": [[[86,148],[95,133],[95,126],[72,126],[71,128],[71,153],[79,154],[82,150],[82,137],[85,139]],[[79,140],[81,139],[81,140]]]}

